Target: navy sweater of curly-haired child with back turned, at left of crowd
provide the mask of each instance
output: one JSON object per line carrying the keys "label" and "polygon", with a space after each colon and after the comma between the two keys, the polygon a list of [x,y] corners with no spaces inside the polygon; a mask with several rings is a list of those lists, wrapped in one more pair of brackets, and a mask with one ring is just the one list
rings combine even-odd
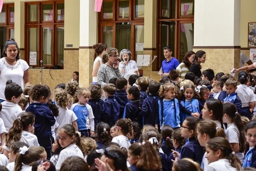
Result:
{"label": "navy sweater of curly-haired child with back turned, at left of crowd", "polygon": [[55,124],[55,118],[45,103],[30,103],[26,112],[31,112],[35,116],[35,135],[38,138],[42,139],[52,135],[51,126]]}

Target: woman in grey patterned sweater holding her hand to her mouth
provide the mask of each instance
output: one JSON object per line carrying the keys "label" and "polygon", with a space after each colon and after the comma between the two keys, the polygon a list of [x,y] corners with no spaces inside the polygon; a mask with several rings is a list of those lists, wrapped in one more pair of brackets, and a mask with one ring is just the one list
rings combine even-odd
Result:
{"label": "woman in grey patterned sweater holding her hand to her mouth", "polygon": [[102,64],[98,70],[98,83],[103,87],[109,83],[111,78],[123,77],[120,70],[118,69],[118,50],[116,48],[109,48],[107,50],[108,61]]}

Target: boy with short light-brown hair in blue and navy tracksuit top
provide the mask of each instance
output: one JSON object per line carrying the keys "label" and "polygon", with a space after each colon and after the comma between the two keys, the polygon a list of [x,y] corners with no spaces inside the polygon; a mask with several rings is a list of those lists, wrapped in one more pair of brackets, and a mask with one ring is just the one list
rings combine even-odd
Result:
{"label": "boy with short light-brown hair in blue and navy tracksuit top", "polygon": [[225,83],[226,86],[226,97],[223,99],[223,103],[233,103],[236,105],[238,113],[241,114],[242,102],[238,95],[236,94],[237,81],[234,78],[230,78]]}

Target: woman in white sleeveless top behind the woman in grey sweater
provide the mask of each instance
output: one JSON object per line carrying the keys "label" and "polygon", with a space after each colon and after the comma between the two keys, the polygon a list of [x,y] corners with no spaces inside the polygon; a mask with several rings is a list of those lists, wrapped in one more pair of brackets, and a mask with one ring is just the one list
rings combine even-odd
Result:
{"label": "woman in white sleeveless top behind the woman in grey sweater", "polygon": [[95,50],[94,52],[94,63],[93,63],[93,70],[92,70],[92,83],[97,83],[98,81],[98,70],[99,67],[102,65],[102,57],[104,53],[107,52],[108,46],[105,43],[98,43],[94,44],[92,48]]}

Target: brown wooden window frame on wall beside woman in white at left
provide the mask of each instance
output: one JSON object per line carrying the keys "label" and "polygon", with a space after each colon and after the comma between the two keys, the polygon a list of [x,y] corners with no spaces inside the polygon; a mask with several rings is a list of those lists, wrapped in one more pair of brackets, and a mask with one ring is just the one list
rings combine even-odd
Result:
{"label": "brown wooden window frame on wall beside woman in white at left", "polygon": [[[42,5],[53,4],[53,19],[51,21],[43,21]],[[42,60],[42,28],[52,28],[52,64],[44,64],[44,68],[50,68],[57,65],[57,28],[64,27],[64,20],[57,20],[57,4],[64,4],[64,0],[49,0],[43,2],[25,2],[25,60],[29,64],[29,28],[38,28],[38,53],[37,65],[29,65],[32,67],[39,67],[39,61]],[[38,5],[38,20],[36,22],[29,22],[29,6]],[[61,66],[63,69],[64,65]]]}

